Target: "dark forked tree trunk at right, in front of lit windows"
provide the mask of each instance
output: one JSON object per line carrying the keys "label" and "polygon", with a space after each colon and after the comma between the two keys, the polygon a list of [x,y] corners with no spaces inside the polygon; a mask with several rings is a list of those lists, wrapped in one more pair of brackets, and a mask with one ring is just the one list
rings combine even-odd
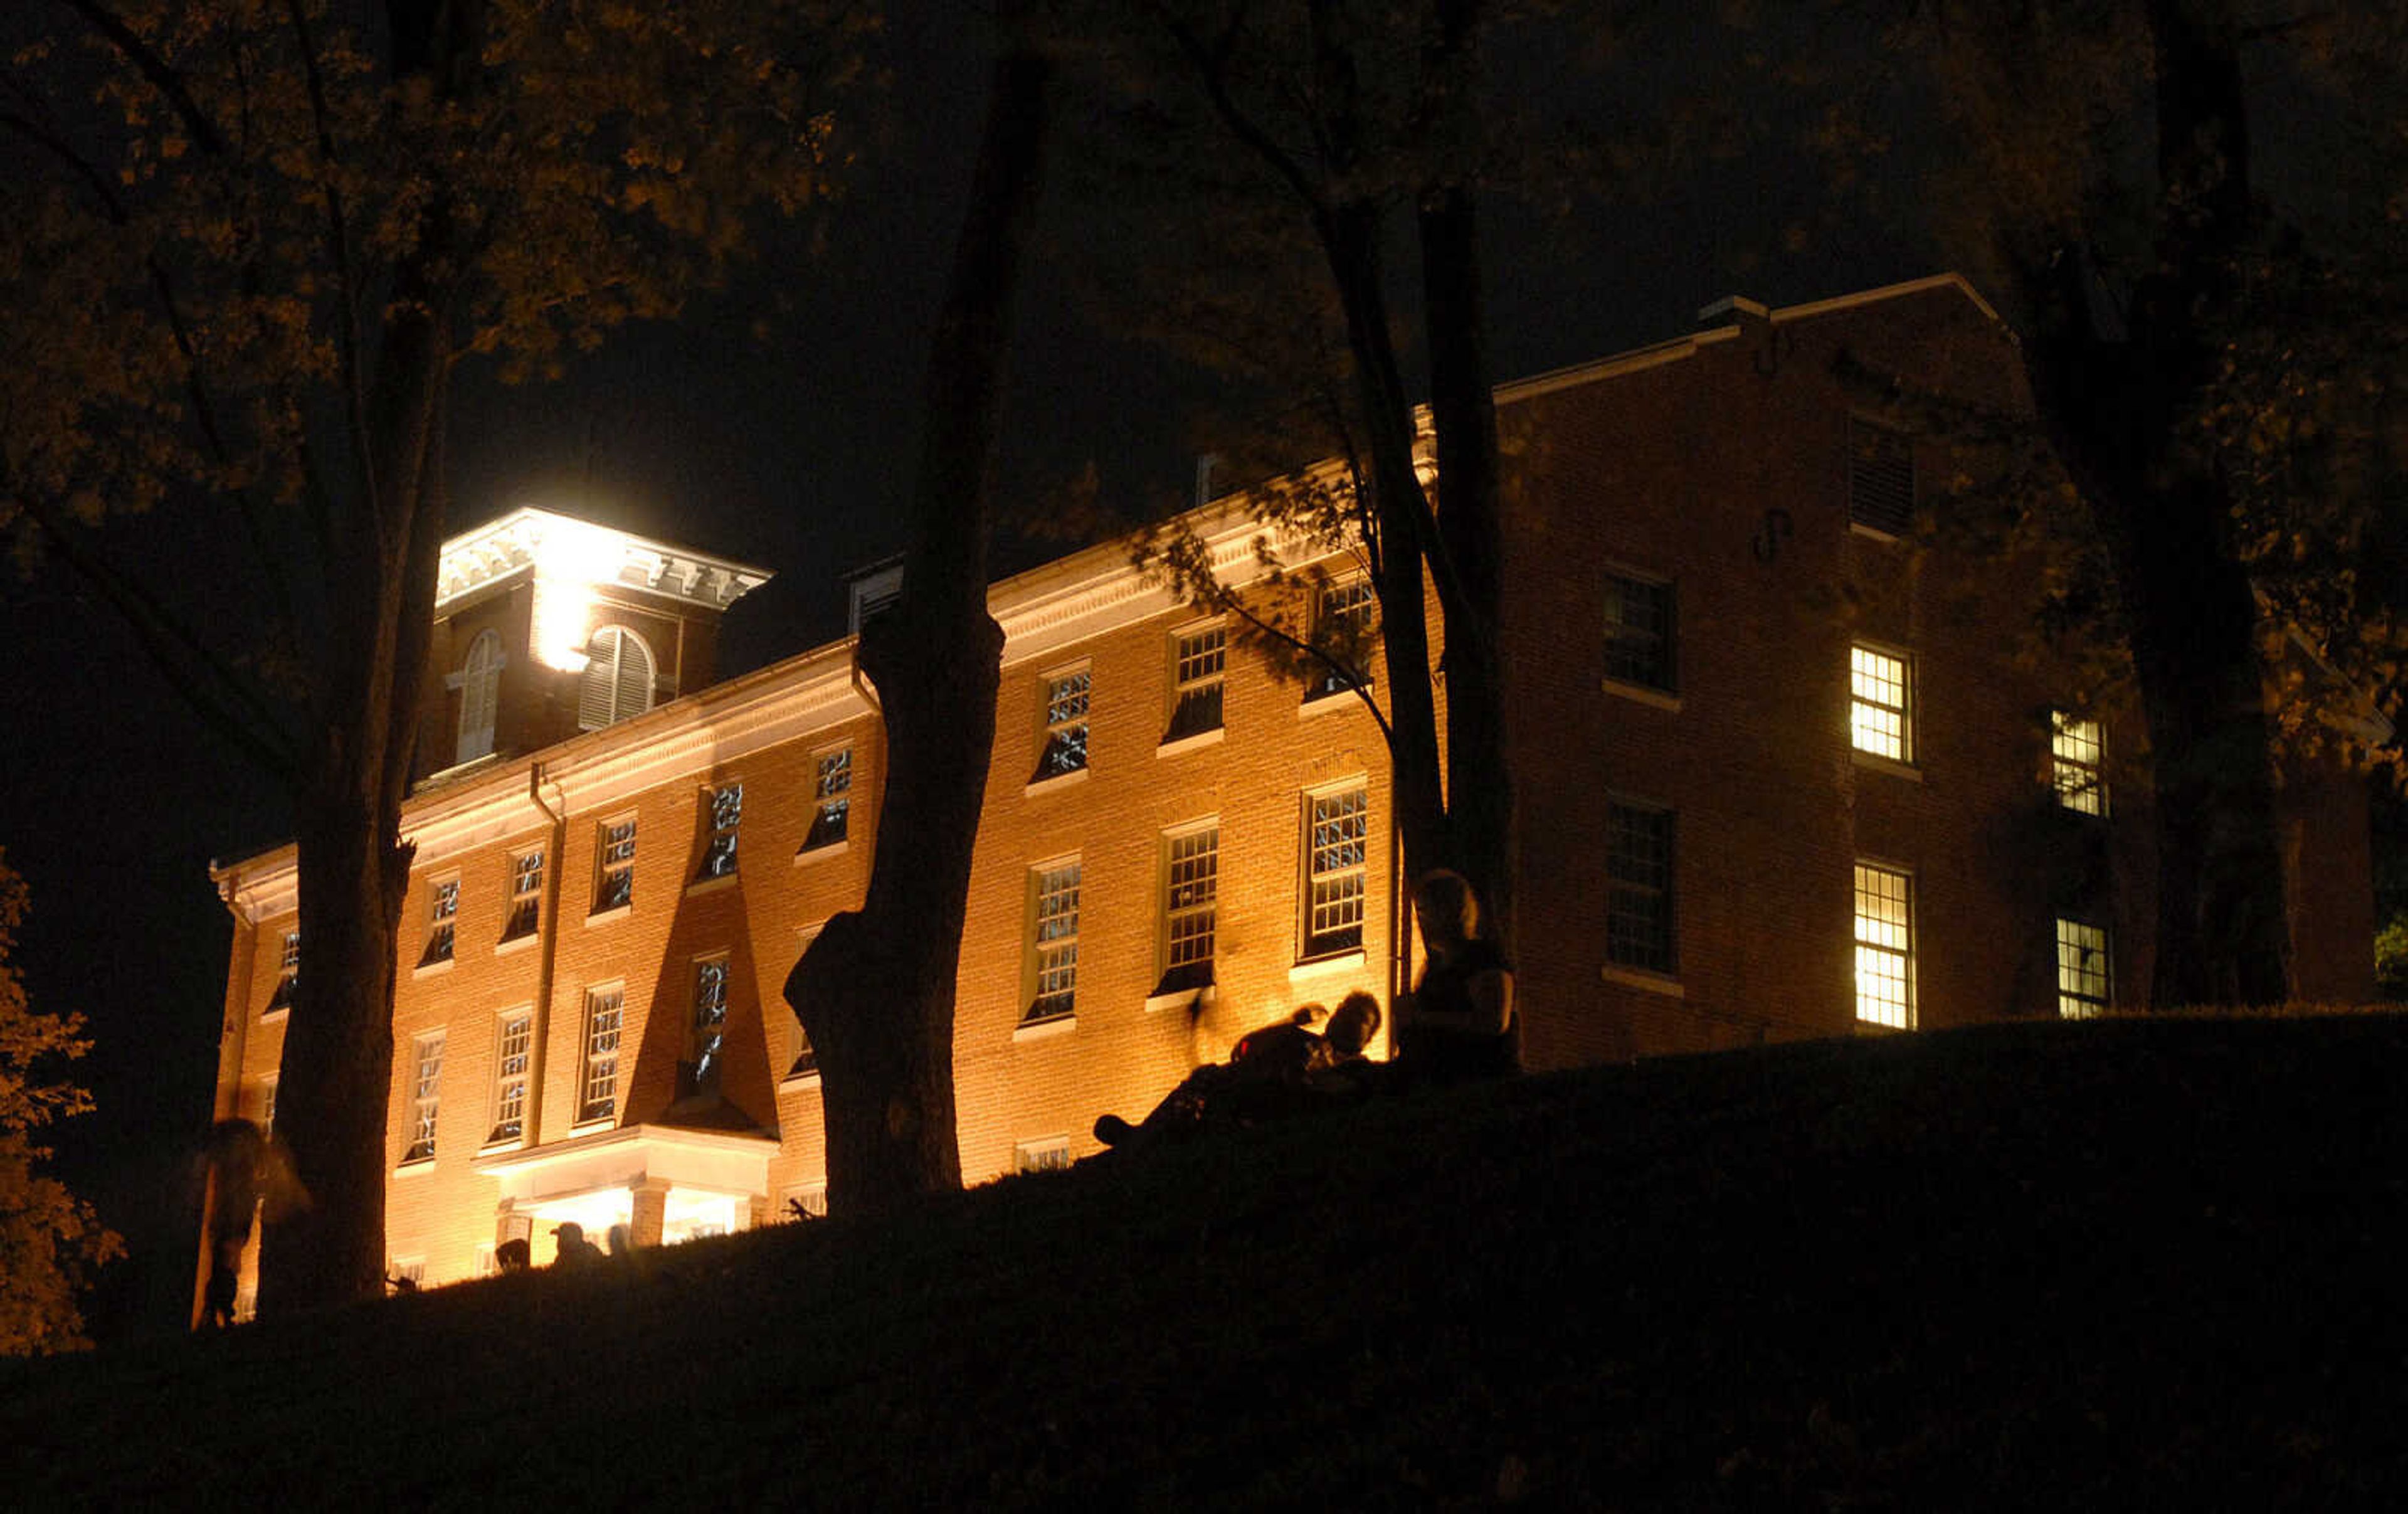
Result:
{"label": "dark forked tree trunk at right, in front of lit windows", "polygon": [[2040,330],[2025,371],[2117,573],[2158,787],[2158,960],[2150,1004],[2290,994],[2276,775],[2256,595],[2230,493],[2182,440],[2213,375],[2208,325],[2249,236],[2237,43],[2150,0],[2158,63],[2158,272],[2121,330],[2100,330],[2078,248],[2013,260]]}

